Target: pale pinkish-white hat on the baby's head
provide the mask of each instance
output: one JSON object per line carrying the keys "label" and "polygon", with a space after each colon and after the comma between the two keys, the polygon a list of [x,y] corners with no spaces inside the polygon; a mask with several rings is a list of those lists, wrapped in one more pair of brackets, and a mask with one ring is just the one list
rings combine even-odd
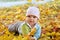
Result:
{"label": "pale pinkish-white hat on the baby's head", "polygon": [[26,16],[28,16],[28,15],[34,15],[34,16],[36,16],[37,18],[39,18],[39,16],[40,16],[40,11],[39,11],[39,9],[38,9],[37,7],[29,7],[29,8],[27,9]]}

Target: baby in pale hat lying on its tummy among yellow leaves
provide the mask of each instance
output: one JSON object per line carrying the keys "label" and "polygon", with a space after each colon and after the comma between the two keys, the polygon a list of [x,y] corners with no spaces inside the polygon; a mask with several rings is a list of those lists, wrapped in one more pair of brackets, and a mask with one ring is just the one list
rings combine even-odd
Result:
{"label": "baby in pale hat lying on its tummy among yellow leaves", "polygon": [[9,31],[18,32],[22,35],[27,35],[31,32],[33,28],[36,28],[36,31],[33,36],[30,37],[30,40],[38,40],[41,35],[41,27],[38,24],[40,11],[37,7],[29,7],[26,12],[26,19],[24,22],[16,22],[15,24],[9,25]]}

